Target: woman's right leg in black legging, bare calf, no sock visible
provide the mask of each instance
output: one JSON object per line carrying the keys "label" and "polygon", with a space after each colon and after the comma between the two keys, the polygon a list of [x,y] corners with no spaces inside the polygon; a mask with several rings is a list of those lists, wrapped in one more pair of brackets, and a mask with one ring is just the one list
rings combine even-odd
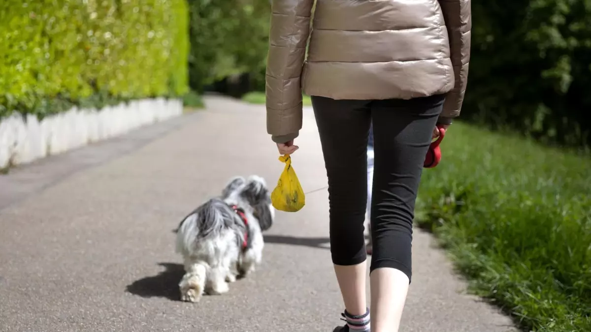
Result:
{"label": "woman's right leg in black legging, bare calf, no sock visible", "polygon": [[411,279],[415,200],[443,100],[430,96],[372,103],[372,332],[395,332],[400,326]]}

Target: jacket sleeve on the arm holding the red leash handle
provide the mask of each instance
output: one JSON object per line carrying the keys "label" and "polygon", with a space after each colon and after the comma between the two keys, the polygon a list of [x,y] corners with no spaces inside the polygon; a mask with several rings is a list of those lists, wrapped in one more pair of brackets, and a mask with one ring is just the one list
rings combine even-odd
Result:
{"label": "jacket sleeve on the arm holding the red leash handle", "polygon": [[470,0],[439,0],[447,25],[455,85],[447,93],[440,122],[450,122],[460,115],[470,63],[470,30],[472,30],[472,9]]}

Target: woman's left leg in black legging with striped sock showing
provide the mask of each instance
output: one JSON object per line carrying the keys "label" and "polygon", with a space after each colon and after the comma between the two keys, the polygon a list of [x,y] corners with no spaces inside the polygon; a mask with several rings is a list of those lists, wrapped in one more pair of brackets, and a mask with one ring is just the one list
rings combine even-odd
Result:
{"label": "woman's left leg in black legging with striped sock showing", "polygon": [[330,252],[347,321],[347,326],[335,331],[369,331],[363,236],[369,102],[311,99],[329,180]]}

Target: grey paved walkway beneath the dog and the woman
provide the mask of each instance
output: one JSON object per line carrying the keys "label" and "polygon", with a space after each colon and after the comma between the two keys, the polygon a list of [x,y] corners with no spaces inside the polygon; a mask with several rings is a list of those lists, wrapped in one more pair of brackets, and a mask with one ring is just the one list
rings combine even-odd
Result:
{"label": "grey paved walkway beneath the dog and the woman", "polygon": [[[343,310],[330,263],[326,175],[310,109],[293,165],[307,195],[277,213],[264,263],[229,294],[178,301],[181,217],[232,175],[282,170],[261,106],[207,109],[0,176],[0,331],[332,331]],[[452,274],[415,230],[401,331],[505,332],[508,318]]]}

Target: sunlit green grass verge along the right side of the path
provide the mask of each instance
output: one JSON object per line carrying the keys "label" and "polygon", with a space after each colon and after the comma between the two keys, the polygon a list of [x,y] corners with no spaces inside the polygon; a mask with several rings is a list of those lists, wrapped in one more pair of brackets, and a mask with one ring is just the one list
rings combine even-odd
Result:
{"label": "sunlit green grass verge along the right side of the path", "polygon": [[454,124],[417,223],[524,331],[591,331],[591,160]]}

